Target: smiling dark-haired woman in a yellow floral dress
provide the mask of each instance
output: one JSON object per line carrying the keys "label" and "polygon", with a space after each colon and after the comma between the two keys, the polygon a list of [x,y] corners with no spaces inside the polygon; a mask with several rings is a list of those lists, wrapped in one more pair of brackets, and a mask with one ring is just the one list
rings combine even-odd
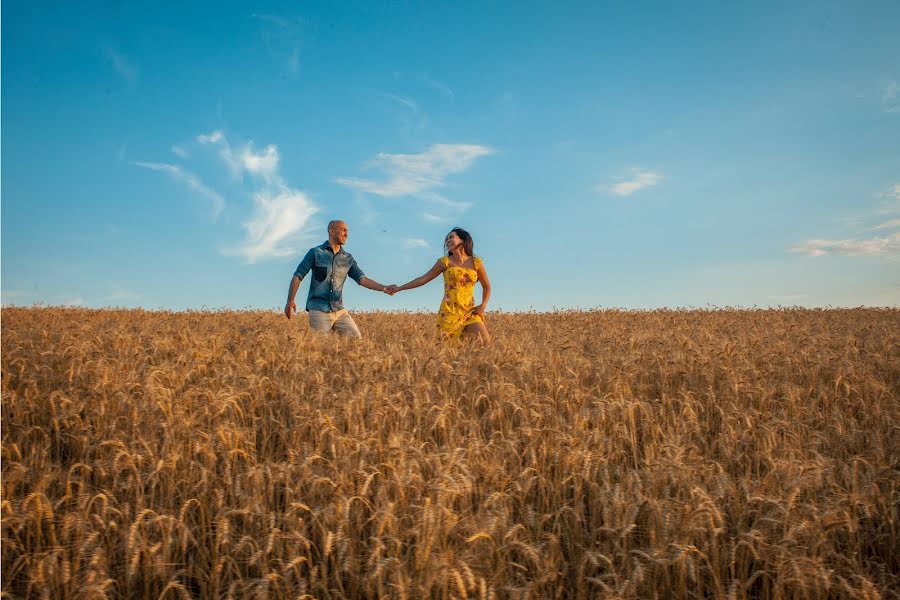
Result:
{"label": "smiling dark-haired woman in a yellow floral dress", "polygon": [[[444,299],[438,310],[438,330],[443,337],[479,338],[491,343],[491,335],[484,324],[484,310],[491,297],[491,282],[484,263],[472,251],[472,236],[465,229],[455,227],[444,239],[447,256],[442,256],[431,270],[388,293],[402,292],[425,285],[444,274]],[[475,282],[481,283],[481,304],[475,306]]]}

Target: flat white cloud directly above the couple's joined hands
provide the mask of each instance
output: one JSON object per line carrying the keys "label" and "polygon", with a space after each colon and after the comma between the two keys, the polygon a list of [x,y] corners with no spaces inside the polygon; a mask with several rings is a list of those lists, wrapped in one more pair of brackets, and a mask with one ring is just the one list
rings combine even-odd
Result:
{"label": "flat white cloud directly above the couple's joined hands", "polygon": [[[341,177],[337,182],[386,198],[421,197],[423,192],[443,186],[448,176],[468,169],[479,157],[493,153],[493,148],[475,144],[435,144],[419,154],[381,152],[370,166],[381,169],[386,181]],[[430,199],[437,198],[442,197],[433,195]]]}

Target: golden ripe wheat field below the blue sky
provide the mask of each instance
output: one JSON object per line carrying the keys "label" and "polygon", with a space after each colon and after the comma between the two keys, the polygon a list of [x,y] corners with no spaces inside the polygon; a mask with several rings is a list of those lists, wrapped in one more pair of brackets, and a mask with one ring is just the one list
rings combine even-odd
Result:
{"label": "golden ripe wheat field below the blue sky", "polygon": [[900,598],[900,311],[2,311],[6,598]]}

